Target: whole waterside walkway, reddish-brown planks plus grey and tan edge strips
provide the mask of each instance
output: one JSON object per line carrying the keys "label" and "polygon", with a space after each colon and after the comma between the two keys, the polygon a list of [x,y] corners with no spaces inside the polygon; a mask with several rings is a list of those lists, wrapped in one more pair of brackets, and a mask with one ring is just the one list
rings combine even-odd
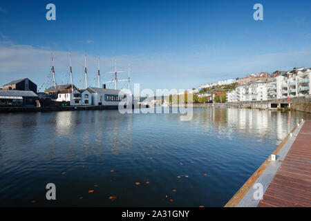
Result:
{"label": "whole waterside walkway, reddish-brown planks plus grey and tan edge strips", "polygon": [[[301,122],[274,153],[249,177],[225,207],[311,206],[311,121]],[[256,200],[256,184],[263,199]]]}

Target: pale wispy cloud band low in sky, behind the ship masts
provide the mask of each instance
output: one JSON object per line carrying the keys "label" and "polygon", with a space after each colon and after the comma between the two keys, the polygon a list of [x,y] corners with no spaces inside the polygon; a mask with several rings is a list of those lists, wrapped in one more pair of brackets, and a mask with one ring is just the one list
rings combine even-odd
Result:
{"label": "pale wispy cloud band low in sky, behind the ship masts", "polygon": [[[13,79],[29,77],[38,86],[46,83],[50,71],[50,55],[55,57],[57,84],[68,81],[68,52],[53,51],[50,48],[39,48],[28,45],[13,44],[0,32],[0,85]],[[1,37],[2,36],[2,37]],[[73,61],[73,80],[82,86],[84,52],[71,51]],[[95,85],[97,71],[97,55],[88,55],[88,81]],[[102,81],[113,78],[109,71],[114,70],[115,57],[100,55]],[[301,50],[262,54],[254,56],[228,56],[210,52],[187,54],[149,54],[119,55],[117,69],[127,70],[131,64],[134,83],[141,83],[142,88],[193,88],[209,81],[244,77],[249,73],[274,70],[288,70],[294,66],[311,66],[311,48]],[[127,74],[120,74],[126,78]],[[79,85],[80,84],[80,85]]]}

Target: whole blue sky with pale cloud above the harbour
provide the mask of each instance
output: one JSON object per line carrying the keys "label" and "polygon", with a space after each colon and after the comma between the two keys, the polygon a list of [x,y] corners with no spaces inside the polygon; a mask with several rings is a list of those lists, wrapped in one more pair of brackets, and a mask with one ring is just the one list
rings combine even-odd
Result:
{"label": "whole blue sky with pale cloud above the harbour", "polygon": [[[46,20],[48,3],[56,21]],[[255,3],[263,5],[263,21],[253,19]],[[73,54],[79,86],[84,53],[93,86],[98,55],[102,81],[111,80],[105,72],[116,57],[119,70],[131,64],[133,82],[151,89],[310,67],[310,12],[308,0],[1,1],[0,85],[28,77],[44,88],[51,52],[58,84],[68,82]]]}

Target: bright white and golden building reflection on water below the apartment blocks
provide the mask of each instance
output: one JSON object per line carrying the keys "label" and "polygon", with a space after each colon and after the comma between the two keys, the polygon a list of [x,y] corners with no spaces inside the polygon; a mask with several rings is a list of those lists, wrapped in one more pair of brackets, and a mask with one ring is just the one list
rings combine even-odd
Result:
{"label": "bright white and golden building reflection on water below the apartment blocks", "polygon": [[[202,111],[204,110],[204,111]],[[216,129],[219,135],[230,137],[235,131],[248,137],[271,137],[283,140],[295,126],[298,113],[259,111],[256,109],[206,108],[194,111],[191,124]]]}

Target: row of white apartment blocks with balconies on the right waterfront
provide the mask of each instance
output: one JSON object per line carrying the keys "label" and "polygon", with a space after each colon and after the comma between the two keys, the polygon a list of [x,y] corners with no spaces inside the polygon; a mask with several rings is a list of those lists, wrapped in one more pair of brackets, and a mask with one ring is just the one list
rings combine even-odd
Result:
{"label": "row of white apartment blocks with balconies on the right waterfront", "polygon": [[279,72],[272,81],[253,81],[227,93],[227,102],[267,101],[311,95],[311,68]]}

